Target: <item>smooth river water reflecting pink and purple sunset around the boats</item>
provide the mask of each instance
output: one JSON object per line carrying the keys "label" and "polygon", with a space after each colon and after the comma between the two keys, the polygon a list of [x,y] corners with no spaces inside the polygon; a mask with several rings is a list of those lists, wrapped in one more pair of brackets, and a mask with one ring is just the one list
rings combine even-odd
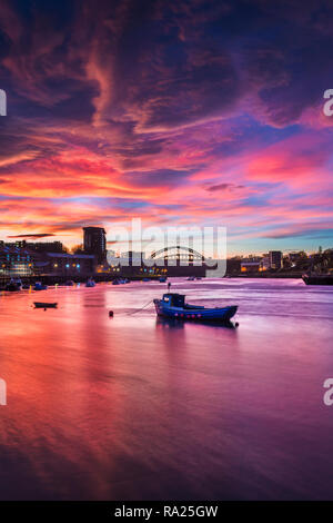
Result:
{"label": "smooth river water reflecting pink and purple sunset around the boats", "polygon": [[131,314],[159,283],[0,297],[0,499],[333,499],[333,287],[172,287],[239,328]]}

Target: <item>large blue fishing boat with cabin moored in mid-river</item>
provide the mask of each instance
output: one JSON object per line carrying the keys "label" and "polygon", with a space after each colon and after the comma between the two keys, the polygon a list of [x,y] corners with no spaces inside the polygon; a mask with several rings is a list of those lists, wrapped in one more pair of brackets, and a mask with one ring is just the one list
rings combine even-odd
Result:
{"label": "large blue fishing boat with cabin moored in mid-river", "polygon": [[163,294],[162,299],[154,299],[158,316],[172,319],[191,319],[200,322],[229,322],[236,313],[238,306],[205,308],[201,305],[189,305],[183,294]]}

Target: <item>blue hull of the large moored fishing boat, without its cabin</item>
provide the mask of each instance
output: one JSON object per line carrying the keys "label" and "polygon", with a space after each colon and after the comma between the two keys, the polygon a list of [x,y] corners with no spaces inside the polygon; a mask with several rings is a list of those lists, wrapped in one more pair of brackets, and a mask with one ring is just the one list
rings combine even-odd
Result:
{"label": "blue hull of the large moored fishing boat, without its cabin", "polygon": [[238,310],[236,305],[221,308],[172,307],[164,304],[161,299],[154,299],[154,306],[158,316],[191,322],[229,322]]}

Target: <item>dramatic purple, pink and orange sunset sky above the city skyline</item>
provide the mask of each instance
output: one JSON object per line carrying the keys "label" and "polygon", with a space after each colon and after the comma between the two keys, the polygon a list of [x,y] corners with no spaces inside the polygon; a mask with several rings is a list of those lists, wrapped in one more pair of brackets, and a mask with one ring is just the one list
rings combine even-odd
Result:
{"label": "dramatic purple, pink and orange sunset sky above the city skyline", "polygon": [[0,239],[141,217],[333,247],[333,2],[2,0]]}

